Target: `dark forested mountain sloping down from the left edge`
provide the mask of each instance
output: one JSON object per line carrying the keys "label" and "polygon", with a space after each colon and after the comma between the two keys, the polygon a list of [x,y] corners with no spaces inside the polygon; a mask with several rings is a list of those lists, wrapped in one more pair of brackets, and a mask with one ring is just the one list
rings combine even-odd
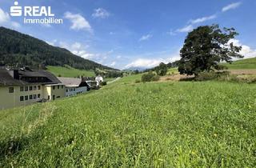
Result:
{"label": "dark forested mountain sloping down from the left edge", "polygon": [[69,50],[15,30],[0,27],[0,63],[9,66],[72,66],[82,70],[113,68],[72,54]]}

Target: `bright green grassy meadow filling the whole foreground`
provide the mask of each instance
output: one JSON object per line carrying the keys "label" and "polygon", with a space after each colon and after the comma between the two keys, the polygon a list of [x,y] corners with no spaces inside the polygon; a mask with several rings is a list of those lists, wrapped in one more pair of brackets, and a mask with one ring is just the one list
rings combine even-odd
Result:
{"label": "bright green grassy meadow filling the whole foreground", "polygon": [[138,78],[0,111],[0,167],[256,165],[256,85]]}

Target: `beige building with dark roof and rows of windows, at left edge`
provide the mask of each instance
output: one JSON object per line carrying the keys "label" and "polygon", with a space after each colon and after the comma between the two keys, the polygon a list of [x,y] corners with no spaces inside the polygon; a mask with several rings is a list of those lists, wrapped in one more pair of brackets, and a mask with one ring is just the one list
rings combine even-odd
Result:
{"label": "beige building with dark roof and rows of windows, at left edge", "polygon": [[65,97],[65,86],[45,70],[0,69],[0,110]]}

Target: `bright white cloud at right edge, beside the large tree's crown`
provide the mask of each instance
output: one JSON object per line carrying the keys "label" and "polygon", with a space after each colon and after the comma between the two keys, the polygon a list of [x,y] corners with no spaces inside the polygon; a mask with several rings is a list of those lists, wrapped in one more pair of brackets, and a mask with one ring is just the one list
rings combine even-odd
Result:
{"label": "bright white cloud at right edge, beside the large tree's crown", "polygon": [[233,42],[234,46],[242,46],[240,54],[245,56],[245,58],[254,58],[256,57],[256,50],[251,49],[250,46],[243,45],[238,39],[231,39],[229,43]]}

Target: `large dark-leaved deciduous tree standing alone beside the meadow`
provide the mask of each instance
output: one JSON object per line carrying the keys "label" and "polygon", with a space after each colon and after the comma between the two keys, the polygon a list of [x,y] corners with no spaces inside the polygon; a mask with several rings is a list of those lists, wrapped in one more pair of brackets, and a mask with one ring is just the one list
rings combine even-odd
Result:
{"label": "large dark-leaved deciduous tree standing alone beside the meadow", "polygon": [[180,74],[198,75],[202,71],[222,70],[219,62],[232,62],[232,58],[243,58],[230,39],[237,36],[234,28],[219,28],[218,25],[199,26],[191,31],[180,51]]}

